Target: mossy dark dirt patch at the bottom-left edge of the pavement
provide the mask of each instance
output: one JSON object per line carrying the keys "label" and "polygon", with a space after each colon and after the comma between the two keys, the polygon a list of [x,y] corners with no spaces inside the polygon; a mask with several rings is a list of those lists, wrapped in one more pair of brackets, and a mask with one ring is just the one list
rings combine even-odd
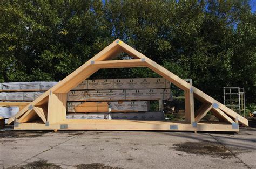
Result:
{"label": "mossy dark dirt patch at the bottom-left edge of the pavement", "polygon": [[46,160],[39,160],[28,163],[26,165],[22,165],[21,167],[13,168],[60,168],[60,166],[53,163],[48,163]]}

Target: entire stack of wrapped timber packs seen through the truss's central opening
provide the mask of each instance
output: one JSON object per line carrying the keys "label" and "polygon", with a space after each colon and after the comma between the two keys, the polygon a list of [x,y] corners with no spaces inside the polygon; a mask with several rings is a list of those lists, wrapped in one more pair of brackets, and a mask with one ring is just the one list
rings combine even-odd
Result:
{"label": "entire stack of wrapped timber packs seen through the truss's central opening", "polygon": [[170,82],[164,78],[85,80],[68,93],[66,118],[164,119],[163,112],[148,112],[149,100],[172,100]]}

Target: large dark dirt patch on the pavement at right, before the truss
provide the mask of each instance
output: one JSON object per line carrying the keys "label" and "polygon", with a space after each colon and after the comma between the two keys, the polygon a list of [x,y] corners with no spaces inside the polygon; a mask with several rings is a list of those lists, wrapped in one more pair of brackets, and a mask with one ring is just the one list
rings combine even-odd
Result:
{"label": "large dark dirt patch on the pavement at right, before the truss", "polygon": [[232,153],[228,149],[214,142],[185,142],[180,144],[174,144],[175,150],[184,151],[193,154],[205,154],[221,157],[232,156]]}

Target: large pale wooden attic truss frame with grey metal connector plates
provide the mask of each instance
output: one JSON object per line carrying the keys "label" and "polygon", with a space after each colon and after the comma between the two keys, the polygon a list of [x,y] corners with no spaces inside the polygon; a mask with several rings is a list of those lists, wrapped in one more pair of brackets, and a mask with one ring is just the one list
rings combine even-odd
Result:
{"label": "large pale wooden attic truss frame with grey metal connector plates", "polygon": [[[119,53],[125,52],[134,59],[111,60]],[[169,121],[129,121],[129,120],[73,120],[65,119],[66,95],[74,87],[101,68],[128,68],[148,67],[152,71],[163,76],[185,94],[185,122]],[[194,113],[194,97],[203,102]],[[200,122],[208,111],[220,119],[219,123]],[[33,116],[38,115],[43,123],[32,123]],[[186,130],[186,131],[239,131],[238,123],[248,126],[248,121],[225,105],[214,100],[214,98],[203,93],[185,80],[171,73],[156,62],[147,58],[142,53],[134,50],[119,39],[113,41],[109,46],[100,51],[95,57],[85,62],[76,71],[58,82],[48,91],[31,102],[14,117],[10,118],[8,124],[15,123],[17,130]]]}

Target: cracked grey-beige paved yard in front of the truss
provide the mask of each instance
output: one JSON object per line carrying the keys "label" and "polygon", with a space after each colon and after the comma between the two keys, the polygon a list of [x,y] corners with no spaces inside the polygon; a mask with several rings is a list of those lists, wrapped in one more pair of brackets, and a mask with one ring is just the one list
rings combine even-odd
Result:
{"label": "cracked grey-beige paved yard in front of the truss", "polygon": [[240,130],[0,131],[0,168],[256,168],[256,129]]}

